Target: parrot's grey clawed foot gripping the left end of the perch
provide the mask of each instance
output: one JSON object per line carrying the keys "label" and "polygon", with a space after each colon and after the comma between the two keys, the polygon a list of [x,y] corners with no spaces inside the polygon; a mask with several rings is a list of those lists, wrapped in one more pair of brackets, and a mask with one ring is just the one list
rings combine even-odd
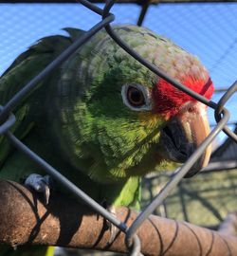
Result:
{"label": "parrot's grey clawed foot gripping the left end of the perch", "polygon": [[30,174],[25,180],[27,187],[32,188],[36,192],[43,193],[46,205],[49,201],[51,183],[52,181],[49,175]]}

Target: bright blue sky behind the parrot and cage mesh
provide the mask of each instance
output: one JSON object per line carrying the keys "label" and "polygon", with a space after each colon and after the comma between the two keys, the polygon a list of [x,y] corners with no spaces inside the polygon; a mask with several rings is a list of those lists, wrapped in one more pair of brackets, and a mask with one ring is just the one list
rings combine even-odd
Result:
{"label": "bright blue sky behind the parrot and cage mesh", "polygon": [[[116,5],[116,24],[136,24],[140,7]],[[79,4],[0,4],[0,74],[37,39],[62,33],[62,27],[89,29],[100,16]],[[210,70],[216,88],[228,87],[237,74],[237,3],[160,4],[152,6],[144,26],[197,55]],[[218,101],[222,94],[215,94]],[[237,97],[228,102],[237,120]],[[214,123],[210,110],[210,123]],[[223,137],[223,136],[222,136]]]}

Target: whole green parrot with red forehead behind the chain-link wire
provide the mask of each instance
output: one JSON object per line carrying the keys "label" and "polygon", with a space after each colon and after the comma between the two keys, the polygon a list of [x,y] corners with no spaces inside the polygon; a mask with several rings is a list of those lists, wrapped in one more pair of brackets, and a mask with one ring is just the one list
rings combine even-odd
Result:
{"label": "whole green parrot with red forehead behind the chain-link wire", "polygon": [[[210,100],[213,82],[196,56],[146,27],[113,29],[142,58]],[[38,40],[16,58],[0,78],[0,105],[85,31],[66,27],[64,33]],[[210,133],[205,104],[140,64],[104,28],[39,82],[13,112],[10,131],[83,192],[99,203],[137,210],[141,177],[184,163]],[[208,164],[210,152],[208,147],[187,177]],[[4,136],[0,177],[45,194],[50,187],[46,173]],[[19,251],[12,255],[34,255]]]}

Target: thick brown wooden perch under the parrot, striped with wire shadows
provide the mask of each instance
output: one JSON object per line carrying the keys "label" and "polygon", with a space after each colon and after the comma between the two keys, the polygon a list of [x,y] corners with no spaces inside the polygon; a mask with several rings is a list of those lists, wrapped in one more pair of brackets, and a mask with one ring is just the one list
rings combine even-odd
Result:
{"label": "thick brown wooden perch under the parrot, striped with wire shadows", "polygon": [[[108,244],[110,230],[97,213],[63,194],[53,194],[49,201],[45,207],[36,193],[0,180],[0,243],[127,251],[122,232]],[[137,216],[127,208],[118,208],[116,214],[127,226]],[[155,215],[143,223],[137,235],[145,255],[237,255],[235,236]]]}

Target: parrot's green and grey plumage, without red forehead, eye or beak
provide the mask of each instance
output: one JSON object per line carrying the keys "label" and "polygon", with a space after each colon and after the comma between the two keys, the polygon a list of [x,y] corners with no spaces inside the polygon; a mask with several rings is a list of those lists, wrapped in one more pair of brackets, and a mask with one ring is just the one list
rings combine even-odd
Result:
{"label": "parrot's green and grey plumage, without red forehead, eye or beak", "polygon": [[[149,29],[114,29],[143,58],[169,74],[180,75],[180,65],[186,72],[197,62]],[[1,105],[83,34],[76,28],[64,30],[68,36],[39,40],[9,66],[0,78]],[[176,60],[179,63],[172,65]],[[164,167],[164,161],[155,161],[155,152],[166,121],[152,111],[130,109],[121,88],[132,83],[151,91],[157,79],[100,30],[19,102],[11,132],[98,202],[105,199],[138,209],[140,176]],[[3,136],[0,168],[0,177],[18,182],[27,174],[43,173]]]}

